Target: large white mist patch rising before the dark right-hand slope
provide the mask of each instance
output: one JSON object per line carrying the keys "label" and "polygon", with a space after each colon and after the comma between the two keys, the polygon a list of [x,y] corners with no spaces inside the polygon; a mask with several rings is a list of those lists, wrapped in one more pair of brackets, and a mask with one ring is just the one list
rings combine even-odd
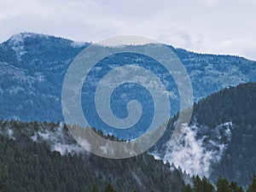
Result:
{"label": "large white mist patch rising before the dark right-hand slope", "polygon": [[[161,159],[180,167],[189,175],[209,177],[211,166],[221,160],[231,139],[232,123],[218,125],[214,129],[207,126],[183,125],[183,137],[175,145],[166,143]],[[160,158],[158,154],[154,154]]]}

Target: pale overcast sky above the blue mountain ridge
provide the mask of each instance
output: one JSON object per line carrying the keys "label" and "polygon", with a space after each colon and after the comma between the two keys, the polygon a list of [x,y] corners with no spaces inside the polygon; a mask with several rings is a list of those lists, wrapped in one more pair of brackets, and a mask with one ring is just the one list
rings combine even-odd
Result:
{"label": "pale overcast sky above the blue mountain ridge", "polygon": [[256,60],[256,1],[0,0],[0,42],[18,32],[89,42],[135,34]]}

